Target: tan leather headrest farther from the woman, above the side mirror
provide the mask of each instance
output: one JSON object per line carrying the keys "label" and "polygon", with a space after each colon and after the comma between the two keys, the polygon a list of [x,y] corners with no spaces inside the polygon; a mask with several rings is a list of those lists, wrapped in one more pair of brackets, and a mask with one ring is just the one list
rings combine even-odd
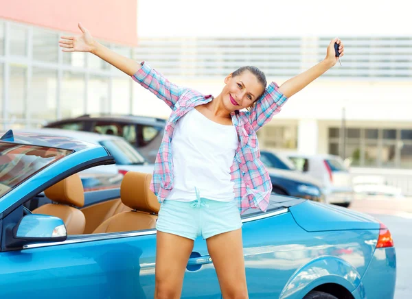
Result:
{"label": "tan leather headrest farther from the woman, above the side mirror", "polygon": [[59,204],[71,204],[81,208],[84,206],[84,191],[82,180],[78,174],[60,180],[45,190],[47,198]]}

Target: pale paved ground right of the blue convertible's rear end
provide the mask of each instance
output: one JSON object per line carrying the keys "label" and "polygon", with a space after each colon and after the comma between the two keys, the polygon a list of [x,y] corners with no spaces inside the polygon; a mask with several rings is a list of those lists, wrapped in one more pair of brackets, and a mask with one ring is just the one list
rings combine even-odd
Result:
{"label": "pale paved ground right of the blue convertible's rear end", "polygon": [[368,198],[356,200],[351,208],[374,215],[389,228],[397,257],[395,299],[412,298],[412,198]]}

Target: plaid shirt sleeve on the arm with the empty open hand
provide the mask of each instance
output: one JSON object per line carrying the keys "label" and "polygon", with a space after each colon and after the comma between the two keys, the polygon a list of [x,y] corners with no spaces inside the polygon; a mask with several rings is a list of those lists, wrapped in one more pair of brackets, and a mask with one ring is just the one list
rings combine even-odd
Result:
{"label": "plaid shirt sleeve on the arm with the empty open hand", "polygon": [[147,62],[141,62],[141,68],[132,76],[132,79],[151,91],[172,109],[184,91],[184,88],[169,82],[161,73],[152,69]]}

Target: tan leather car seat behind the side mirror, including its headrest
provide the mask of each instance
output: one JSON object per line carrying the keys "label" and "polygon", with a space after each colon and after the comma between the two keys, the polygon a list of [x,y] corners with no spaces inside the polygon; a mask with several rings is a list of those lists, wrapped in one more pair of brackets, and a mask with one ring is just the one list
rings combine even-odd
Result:
{"label": "tan leather car seat behind the side mirror, including its headrest", "polygon": [[80,235],[84,231],[86,218],[79,208],[84,205],[83,184],[78,174],[60,180],[45,190],[47,198],[57,204],[45,204],[32,211],[34,214],[45,214],[59,217],[65,222],[67,235]]}

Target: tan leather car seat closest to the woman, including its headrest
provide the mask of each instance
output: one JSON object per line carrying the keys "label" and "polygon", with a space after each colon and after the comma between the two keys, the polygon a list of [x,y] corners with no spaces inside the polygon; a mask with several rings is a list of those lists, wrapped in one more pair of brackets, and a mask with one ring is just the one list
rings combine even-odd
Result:
{"label": "tan leather car seat closest to the woman, including its headrest", "polygon": [[108,218],[93,234],[155,228],[160,204],[149,189],[151,179],[150,174],[128,171],[120,186],[120,199],[133,211],[118,213]]}

